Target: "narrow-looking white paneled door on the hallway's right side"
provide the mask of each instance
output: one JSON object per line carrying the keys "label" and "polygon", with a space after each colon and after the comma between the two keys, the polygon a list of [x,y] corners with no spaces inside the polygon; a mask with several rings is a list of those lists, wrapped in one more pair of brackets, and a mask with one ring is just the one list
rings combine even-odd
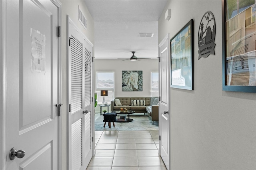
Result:
{"label": "narrow-looking white paneled door on the hallway's right side", "polygon": [[169,113],[169,34],[159,44],[159,82],[160,82],[160,101],[159,101],[159,120],[160,120],[160,142],[159,150],[162,160],[166,168],[170,169],[170,140],[169,140],[169,124],[170,124],[170,113]]}

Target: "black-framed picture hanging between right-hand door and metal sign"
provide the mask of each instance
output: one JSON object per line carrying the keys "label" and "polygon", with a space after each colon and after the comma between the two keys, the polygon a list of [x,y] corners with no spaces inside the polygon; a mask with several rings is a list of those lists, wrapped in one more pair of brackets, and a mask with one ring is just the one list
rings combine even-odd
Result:
{"label": "black-framed picture hanging between right-hand door and metal sign", "polygon": [[170,40],[170,87],[193,90],[193,34],[193,20],[191,19]]}

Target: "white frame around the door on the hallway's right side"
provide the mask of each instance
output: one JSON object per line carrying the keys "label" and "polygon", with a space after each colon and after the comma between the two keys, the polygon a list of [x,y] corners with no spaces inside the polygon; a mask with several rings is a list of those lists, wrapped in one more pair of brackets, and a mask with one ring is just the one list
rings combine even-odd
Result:
{"label": "white frame around the door on the hallway's right side", "polygon": [[[159,45],[158,45],[158,56],[160,57],[160,54],[161,54],[161,51],[160,51],[160,47],[162,47],[162,45],[165,43],[165,42],[168,42],[168,46],[167,46],[167,50],[168,50],[168,59],[167,59],[167,61],[168,61],[168,70],[166,71],[166,73],[167,73],[167,76],[168,76],[168,85],[167,85],[167,88],[169,88],[170,87],[170,36],[169,36],[169,33],[163,38],[163,40],[159,43]],[[159,83],[160,83],[160,60],[159,60],[159,62],[158,62],[158,81],[159,81]],[[161,99],[161,96],[160,96],[160,91],[161,91],[161,86],[160,86],[160,84],[159,84],[159,97],[160,97],[160,99]],[[170,142],[171,142],[171,140],[170,140],[170,135],[171,135],[171,133],[170,133],[170,127],[171,127],[171,121],[170,121],[170,89],[168,90],[169,91],[169,94],[168,94],[168,111],[169,111],[169,122],[168,122],[168,126],[169,126],[169,130],[168,130],[168,132],[169,132],[169,150],[168,150],[168,152],[169,152],[169,167],[166,167],[166,168],[168,168],[169,170],[171,169],[171,148],[170,148],[170,146],[171,146],[171,144],[170,144]],[[159,103],[160,103],[160,101],[159,101]],[[159,119],[159,126],[161,125],[161,107],[159,107],[159,110],[158,110],[158,113],[159,113],[159,115],[158,115],[158,119]],[[160,134],[161,134],[161,128],[159,128],[159,136],[160,136]],[[161,155],[161,146],[160,146],[160,142],[159,142],[159,154]]]}

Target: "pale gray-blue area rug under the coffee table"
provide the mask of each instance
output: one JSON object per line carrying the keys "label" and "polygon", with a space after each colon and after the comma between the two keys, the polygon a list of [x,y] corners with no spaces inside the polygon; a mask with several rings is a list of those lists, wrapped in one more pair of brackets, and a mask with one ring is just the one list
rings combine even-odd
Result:
{"label": "pale gray-blue area rug under the coffee table", "polygon": [[[117,115],[117,118],[119,115]],[[115,127],[111,123],[111,128],[108,127],[108,123],[104,126],[103,115],[98,117],[95,121],[95,130],[108,130],[108,131],[141,131],[141,130],[158,130],[158,121],[152,121],[150,117],[144,116],[144,113],[135,113],[130,115],[130,119],[133,119],[132,122],[115,122]]]}

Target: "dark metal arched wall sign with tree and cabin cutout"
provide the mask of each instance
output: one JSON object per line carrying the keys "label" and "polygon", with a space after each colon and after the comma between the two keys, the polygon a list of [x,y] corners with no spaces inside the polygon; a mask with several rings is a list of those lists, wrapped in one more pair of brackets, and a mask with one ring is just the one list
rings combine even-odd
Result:
{"label": "dark metal arched wall sign with tree and cabin cutout", "polygon": [[198,54],[201,57],[208,57],[210,54],[215,55],[215,19],[212,12],[207,11],[200,23],[200,28],[198,30]]}

